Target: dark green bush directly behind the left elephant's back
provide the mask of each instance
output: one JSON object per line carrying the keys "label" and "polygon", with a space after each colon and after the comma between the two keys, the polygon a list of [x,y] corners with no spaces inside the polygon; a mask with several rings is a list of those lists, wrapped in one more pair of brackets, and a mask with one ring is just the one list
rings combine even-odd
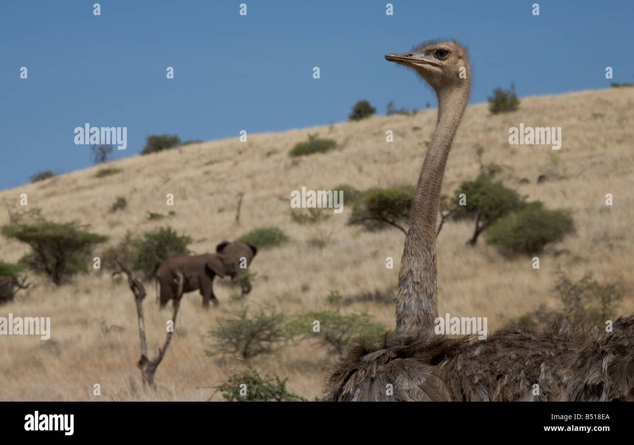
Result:
{"label": "dark green bush directly behind the left elephant's back", "polygon": [[132,268],[142,271],[145,278],[153,277],[160,264],[172,255],[189,254],[187,246],[190,243],[189,236],[179,236],[169,226],[146,232],[140,240],[133,240]]}

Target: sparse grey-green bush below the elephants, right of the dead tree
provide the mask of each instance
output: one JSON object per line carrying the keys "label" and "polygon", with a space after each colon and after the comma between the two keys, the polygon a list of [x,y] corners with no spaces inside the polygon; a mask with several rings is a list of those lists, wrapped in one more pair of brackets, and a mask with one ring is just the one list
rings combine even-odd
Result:
{"label": "sparse grey-green bush below the elephants, right of the dead tree", "polygon": [[290,340],[281,313],[260,311],[250,318],[247,307],[234,313],[236,318],[218,319],[218,327],[209,331],[214,340],[207,355],[225,352],[249,359],[275,351]]}

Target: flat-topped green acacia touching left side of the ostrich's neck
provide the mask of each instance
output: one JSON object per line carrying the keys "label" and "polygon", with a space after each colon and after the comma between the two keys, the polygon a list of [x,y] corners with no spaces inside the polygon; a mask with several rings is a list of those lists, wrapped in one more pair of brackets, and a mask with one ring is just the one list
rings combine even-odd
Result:
{"label": "flat-topped green acacia touching left side of the ostrich's neck", "polygon": [[[344,195],[345,196],[345,195]],[[356,224],[370,231],[394,226],[403,233],[410,219],[414,190],[408,187],[370,189],[354,202],[348,224]]]}

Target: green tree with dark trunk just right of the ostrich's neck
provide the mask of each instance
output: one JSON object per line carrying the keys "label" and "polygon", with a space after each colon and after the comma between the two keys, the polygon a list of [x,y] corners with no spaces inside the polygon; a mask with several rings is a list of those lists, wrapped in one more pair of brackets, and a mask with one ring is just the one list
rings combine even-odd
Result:
{"label": "green tree with dark trunk just right of the ostrich's neck", "polygon": [[[460,205],[460,194],[465,194],[465,205]],[[523,205],[515,190],[506,188],[501,181],[493,182],[488,174],[481,173],[472,181],[463,182],[455,191],[451,208],[454,219],[474,219],[474,235],[470,245],[477,243],[478,236],[500,217],[506,216]]]}

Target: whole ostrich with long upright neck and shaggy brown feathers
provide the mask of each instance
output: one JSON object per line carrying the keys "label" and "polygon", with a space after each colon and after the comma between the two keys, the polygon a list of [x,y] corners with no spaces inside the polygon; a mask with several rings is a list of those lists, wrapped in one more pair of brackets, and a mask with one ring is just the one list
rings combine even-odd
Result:
{"label": "whole ostrich with long upright neck and shaggy brown feathers", "polygon": [[413,68],[436,92],[438,118],[415,191],[396,297],[393,339],[351,340],[328,401],[633,400],[634,316],[591,336],[566,320],[545,333],[500,330],[486,340],[433,332],[436,221],[444,167],[469,101],[467,50],[430,41],[385,59]]}

